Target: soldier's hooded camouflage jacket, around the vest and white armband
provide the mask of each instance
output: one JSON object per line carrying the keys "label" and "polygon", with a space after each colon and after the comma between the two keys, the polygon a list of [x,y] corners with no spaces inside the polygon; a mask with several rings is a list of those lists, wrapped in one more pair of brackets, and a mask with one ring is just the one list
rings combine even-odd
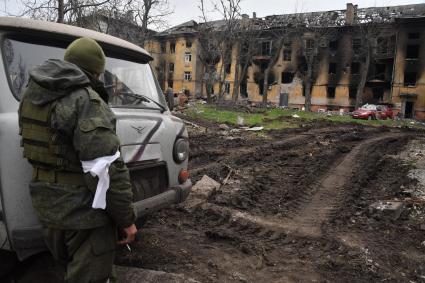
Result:
{"label": "soldier's hooded camouflage jacket, around the vest and white armband", "polygon": [[[54,105],[51,129],[72,145],[81,161],[113,155],[120,147],[115,116],[91,85],[76,65],[51,59],[30,71],[23,97],[34,105]],[[130,226],[134,222],[133,196],[129,172],[121,158],[111,164],[109,175],[106,210],[91,207],[97,178],[89,173],[84,174],[84,185],[33,180],[30,192],[40,221],[58,229],[89,229],[111,220],[122,228]]]}

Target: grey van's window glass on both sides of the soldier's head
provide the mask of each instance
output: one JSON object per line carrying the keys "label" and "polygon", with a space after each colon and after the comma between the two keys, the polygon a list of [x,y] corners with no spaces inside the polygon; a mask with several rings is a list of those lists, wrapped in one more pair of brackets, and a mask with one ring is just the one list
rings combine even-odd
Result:
{"label": "grey van's window glass on both sides of the soldier's head", "polygon": [[[10,87],[20,100],[28,83],[28,71],[47,59],[62,59],[65,49],[14,39],[2,44]],[[166,103],[149,64],[107,56],[101,76],[109,93],[111,107],[165,109]],[[162,107],[161,107],[162,106]]]}

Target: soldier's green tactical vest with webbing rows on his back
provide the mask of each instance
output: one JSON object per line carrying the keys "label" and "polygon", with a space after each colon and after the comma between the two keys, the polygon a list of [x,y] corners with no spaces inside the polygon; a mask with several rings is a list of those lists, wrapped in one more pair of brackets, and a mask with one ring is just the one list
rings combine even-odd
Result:
{"label": "soldier's green tactical vest with webbing rows on his back", "polygon": [[19,107],[19,132],[24,157],[35,170],[82,173],[72,141],[52,129],[51,114],[55,106],[56,101],[34,105],[23,97]]}

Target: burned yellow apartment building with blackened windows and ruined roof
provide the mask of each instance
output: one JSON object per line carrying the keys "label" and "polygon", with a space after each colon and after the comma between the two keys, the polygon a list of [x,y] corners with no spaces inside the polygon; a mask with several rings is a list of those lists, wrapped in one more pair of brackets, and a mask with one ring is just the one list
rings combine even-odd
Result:
{"label": "burned yellow apartment building with blackened windows and ruined roof", "polygon": [[[225,99],[236,92],[254,103],[266,95],[276,105],[312,111],[390,103],[402,117],[425,120],[425,4],[347,4],[346,10],[244,15],[241,21],[256,26],[254,52],[244,56],[249,65],[241,67],[240,42],[227,42],[230,59],[214,63],[223,80],[211,86],[200,60],[205,23],[189,21],[151,36],[145,47],[155,57],[161,87],[195,96],[210,87]],[[214,23],[217,31],[225,24]]]}

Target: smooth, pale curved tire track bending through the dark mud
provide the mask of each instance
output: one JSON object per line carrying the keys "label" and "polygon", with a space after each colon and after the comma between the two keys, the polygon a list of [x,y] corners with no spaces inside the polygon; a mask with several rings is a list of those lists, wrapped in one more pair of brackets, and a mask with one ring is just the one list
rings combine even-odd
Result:
{"label": "smooth, pale curved tire track bending through the dark mud", "polygon": [[242,231],[254,228],[257,233],[271,235],[273,238],[283,234],[319,237],[322,234],[322,224],[328,221],[342,201],[345,193],[344,188],[356,170],[357,157],[365,148],[399,136],[400,134],[387,133],[357,144],[342,159],[330,166],[331,169],[324,174],[316,185],[313,185],[315,189],[309,196],[302,199],[297,212],[291,218],[255,216],[211,203],[204,203],[201,208],[218,216],[221,219],[221,225],[224,224],[223,222],[227,222],[229,228],[235,230]]}

